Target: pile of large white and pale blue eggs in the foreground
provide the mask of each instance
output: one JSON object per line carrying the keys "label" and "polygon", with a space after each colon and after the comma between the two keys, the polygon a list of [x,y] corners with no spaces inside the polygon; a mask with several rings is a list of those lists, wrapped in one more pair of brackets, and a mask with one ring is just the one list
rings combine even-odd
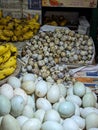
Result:
{"label": "pile of large white and pale blue eggs in the foreground", "polygon": [[81,82],[11,76],[0,86],[0,130],[98,130],[97,96]]}

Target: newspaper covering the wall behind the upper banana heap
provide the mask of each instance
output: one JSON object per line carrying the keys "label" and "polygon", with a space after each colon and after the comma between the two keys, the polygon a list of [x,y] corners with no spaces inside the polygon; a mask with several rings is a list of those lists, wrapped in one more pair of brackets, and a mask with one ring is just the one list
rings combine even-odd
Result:
{"label": "newspaper covering the wall behind the upper banana heap", "polygon": [[0,9],[4,17],[13,18],[32,18],[37,13],[41,23],[41,0],[0,0]]}

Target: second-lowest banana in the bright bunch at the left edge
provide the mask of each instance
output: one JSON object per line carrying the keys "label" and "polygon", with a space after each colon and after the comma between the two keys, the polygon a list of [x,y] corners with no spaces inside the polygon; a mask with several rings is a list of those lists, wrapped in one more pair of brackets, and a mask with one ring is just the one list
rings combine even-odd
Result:
{"label": "second-lowest banana in the bright bunch at the left edge", "polygon": [[17,64],[16,56],[11,56],[5,63],[0,65],[0,69],[16,66],[16,64]]}

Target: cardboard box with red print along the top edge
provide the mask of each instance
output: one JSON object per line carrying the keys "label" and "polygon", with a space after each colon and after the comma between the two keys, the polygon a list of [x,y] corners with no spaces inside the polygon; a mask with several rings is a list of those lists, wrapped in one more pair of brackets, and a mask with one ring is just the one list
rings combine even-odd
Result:
{"label": "cardboard box with red print along the top edge", "polygon": [[42,0],[42,6],[96,8],[97,0]]}

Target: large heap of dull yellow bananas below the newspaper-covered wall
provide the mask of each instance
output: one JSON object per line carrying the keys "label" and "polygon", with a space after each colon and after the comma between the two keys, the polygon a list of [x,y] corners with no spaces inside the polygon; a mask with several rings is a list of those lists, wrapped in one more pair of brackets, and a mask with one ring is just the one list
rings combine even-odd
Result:
{"label": "large heap of dull yellow bananas below the newspaper-covered wall", "polygon": [[31,19],[17,19],[11,16],[0,17],[0,41],[24,41],[32,38],[40,28],[39,16]]}

